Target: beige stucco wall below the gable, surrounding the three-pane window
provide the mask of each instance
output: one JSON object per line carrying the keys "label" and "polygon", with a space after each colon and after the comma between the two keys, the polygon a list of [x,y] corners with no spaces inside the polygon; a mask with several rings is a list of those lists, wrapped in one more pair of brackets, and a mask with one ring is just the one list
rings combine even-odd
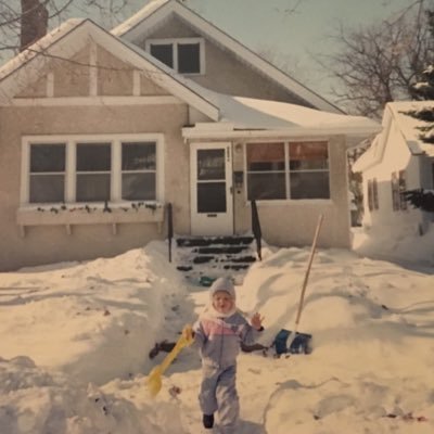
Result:
{"label": "beige stucco wall below the gable, surrounding the three-pane window", "polygon": [[111,225],[27,227],[20,233],[21,137],[24,135],[145,133],[163,132],[165,142],[165,201],[174,204],[175,231],[188,233],[189,165],[188,148],[180,129],[187,122],[186,105],[99,106],[99,107],[9,107],[0,110],[1,164],[0,269],[63,260],[113,256],[143,246],[166,235],[155,224],[120,224],[117,234]]}

